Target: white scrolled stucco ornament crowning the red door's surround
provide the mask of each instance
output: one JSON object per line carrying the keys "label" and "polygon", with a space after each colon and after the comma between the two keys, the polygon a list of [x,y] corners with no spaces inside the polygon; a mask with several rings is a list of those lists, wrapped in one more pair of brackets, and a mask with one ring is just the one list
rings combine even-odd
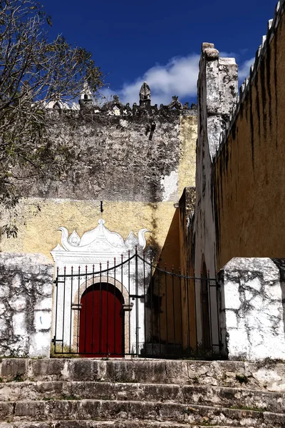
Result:
{"label": "white scrolled stucco ornament crowning the red door's surround", "polygon": [[110,251],[124,253],[128,250],[143,250],[146,245],[145,233],[150,232],[147,229],[141,229],[138,232],[138,238],[132,232],[129,233],[126,240],[119,233],[111,232],[105,227],[105,220],[100,218],[98,226],[88,232],[83,233],[80,237],[76,230],[73,230],[71,235],[68,235],[68,230],[64,227],[58,228],[61,230],[61,245],[57,245],[53,251],[66,250],[76,253],[102,253],[102,251]]}

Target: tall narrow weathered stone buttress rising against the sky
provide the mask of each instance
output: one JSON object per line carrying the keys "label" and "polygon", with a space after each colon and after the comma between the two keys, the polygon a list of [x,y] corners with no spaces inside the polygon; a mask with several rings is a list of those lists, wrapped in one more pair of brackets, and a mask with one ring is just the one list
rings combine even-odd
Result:
{"label": "tall narrow weathered stone buttress rising against the sky", "polygon": [[[198,139],[196,205],[193,225],[195,271],[216,270],[215,212],[212,191],[212,160],[219,136],[237,99],[237,64],[234,58],[219,58],[213,44],[204,43],[198,78]],[[199,307],[199,302],[198,302]]]}

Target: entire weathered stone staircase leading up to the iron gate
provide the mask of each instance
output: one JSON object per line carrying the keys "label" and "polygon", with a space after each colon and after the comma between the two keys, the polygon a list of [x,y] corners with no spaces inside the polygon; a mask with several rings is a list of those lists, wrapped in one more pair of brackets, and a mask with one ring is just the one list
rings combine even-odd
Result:
{"label": "entire weathered stone staircase leading up to the iron gate", "polygon": [[0,428],[285,427],[285,365],[4,359]]}

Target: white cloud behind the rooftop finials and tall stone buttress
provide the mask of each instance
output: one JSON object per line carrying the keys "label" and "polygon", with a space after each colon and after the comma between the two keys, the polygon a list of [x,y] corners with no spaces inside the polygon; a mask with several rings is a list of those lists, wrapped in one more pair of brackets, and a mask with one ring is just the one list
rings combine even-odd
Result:
{"label": "white cloud behind the rooftop finials and tall stone buttress", "polygon": [[[220,57],[237,57],[239,54],[220,52]],[[169,104],[173,95],[180,98],[193,98],[197,96],[197,78],[199,71],[199,55],[190,54],[188,56],[176,56],[171,58],[165,65],[157,64],[149,68],[145,73],[136,78],[135,81],[124,83],[123,87],[117,91],[111,88],[103,88],[101,93],[110,99],[118,94],[122,103],[139,102],[140,87],[144,81],[150,86],[152,92],[152,104]],[[239,80],[244,79],[249,74],[249,68],[254,62],[251,58],[239,64]]]}

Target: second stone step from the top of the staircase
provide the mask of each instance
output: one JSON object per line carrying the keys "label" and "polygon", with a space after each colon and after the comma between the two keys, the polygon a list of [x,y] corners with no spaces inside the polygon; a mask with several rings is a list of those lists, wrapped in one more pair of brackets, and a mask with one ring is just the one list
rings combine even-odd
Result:
{"label": "second stone step from the top of the staircase", "polygon": [[0,401],[49,399],[100,399],[203,404],[213,407],[285,412],[285,394],[257,389],[205,387],[179,384],[110,382],[6,382],[0,384]]}

